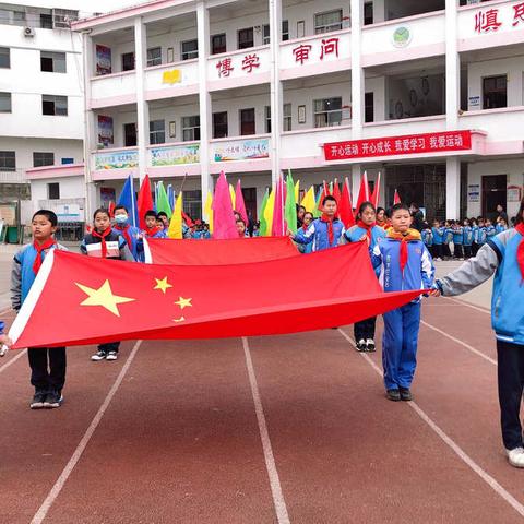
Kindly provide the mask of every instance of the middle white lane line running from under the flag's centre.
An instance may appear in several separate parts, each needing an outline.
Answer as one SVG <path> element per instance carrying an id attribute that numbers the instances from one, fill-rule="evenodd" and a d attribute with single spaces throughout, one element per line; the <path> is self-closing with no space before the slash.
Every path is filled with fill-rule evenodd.
<path id="1" fill-rule="evenodd" d="M 259 384 L 254 374 L 253 361 L 251 360 L 251 352 L 246 337 L 242 337 L 243 354 L 246 357 L 246 367 L 248 368 L 249 384 L 251 385 L 251 394 L 253 395 L 254 410 L 259 422 L 260 439 L 264 451 L 265 467 L 270 477 L 271 492 L 273 493 L 273 504 L 275 507 L 276 519 L 278 524 L 289 524 L 289 515 L 287 513 L 286 501 L 282 493 L 281 479 L 276 471 L 275 457 L 271 446 L 270 433 L 267 432 L 267 424 L 265 422 L 264 409 L 260 400 Z"/>

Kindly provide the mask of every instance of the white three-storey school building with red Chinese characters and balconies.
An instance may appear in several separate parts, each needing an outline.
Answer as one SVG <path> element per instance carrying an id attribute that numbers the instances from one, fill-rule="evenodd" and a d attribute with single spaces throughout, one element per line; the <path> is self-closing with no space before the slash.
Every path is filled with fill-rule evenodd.
<path id="1" fill-rule="evenodd" d="M 383 204 L 397 189 L 428 218 L 516 213 L 524 1 L 155 0 L 73 29 L 84 172 L 29 178 L 88 212 L 148 174 L 199 216 L 224 170 L 257 216 L 291 169 L 302 189 L 347 176 L 354 198 L 380 172 Z"/>

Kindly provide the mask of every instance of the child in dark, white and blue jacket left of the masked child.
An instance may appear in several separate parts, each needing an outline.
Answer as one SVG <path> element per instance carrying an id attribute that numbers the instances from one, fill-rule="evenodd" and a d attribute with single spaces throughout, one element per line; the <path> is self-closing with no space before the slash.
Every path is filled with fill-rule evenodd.
<path id="1" fill-rule="evenodd" d="M 80 252 L 90 257 L 134 262 L 126 239 L 111 229 L 111 219 L 107 210 L 98 209 L 93 215 L 93 229 L 80 245 Z M 109 342 L 98 345 L 98 350 L 92 355 L 93 361 L 116 360 L 118 358 L 119 342 Z"/>

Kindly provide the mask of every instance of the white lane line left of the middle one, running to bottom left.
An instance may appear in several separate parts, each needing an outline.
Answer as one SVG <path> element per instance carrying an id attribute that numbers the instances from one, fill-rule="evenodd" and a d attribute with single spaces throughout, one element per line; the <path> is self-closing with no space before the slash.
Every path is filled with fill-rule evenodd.
<path id="1" fill-rule="evenodd" d="M 35 516 L 31 521 L 31 524 L 40 524 L 44 519 L 47 516 L 47 513 L 49 512 L 52 503 L 57 499 L 57 497 L 60 495 L 60 491 L 62 490 L 64 484 L 67 483 L 68 478 L 70 477 L 71 473 L 74 469 L 74 466 L 76 466 L 78 462 L 80 461 L 80 457 L 82 456 L 82 453 L 85 451 L 85 448 L 90 443 L 91 438 L 93 437 L 93 433 L 95 432 L 96 428 L 100 424 L 102 417 L 106 413 L 107 408 L 109 407 L 109 404 L 112 401 L 112 397 L 117 393 L 118 389 L 120 388 L 120 384 L 122 383 L 123 377 L 128 372 L 131 362 L 133 361 L 136 352 L 140 348 L 140 345 L 142 344 L 142 341 L 138 341 L 136 344 L 134 345 L 133 349 L 129 354 L 128 359 L 126 360 L 126 364 L 123 365 L 122 369 L 120 370 L 120 373 L 117 377 L 117 380 L 115 380 L 111 389 L 109 390 L 109 393 L 107 394 L 106 398 L 104 400 L 104 403 L 99 407 L 98 412 L 96 413 L 95 417 L 90 424 L 90 427 L 85 431 L 84 436 L 82 437 L 82 440 L 79 442 L 79 445 L 74 450 L 73 454 L 71 455 L 71 458 L 69 462 L 66 464 L 66 467 L 62 469 L 62 473 L 58 477 L 57 481 L 52 486 L 51 490 L 47 495 L 46 499 L 41 503 L 40 508 L 38 508 L 38 511 L 35 513 Z"/>

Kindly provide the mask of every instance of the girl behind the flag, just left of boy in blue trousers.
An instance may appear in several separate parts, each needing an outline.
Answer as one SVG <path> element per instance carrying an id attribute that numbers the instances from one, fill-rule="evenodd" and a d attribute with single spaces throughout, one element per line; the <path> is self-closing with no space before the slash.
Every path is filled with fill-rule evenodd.
<path id="1" fill-rule="evenodd" d="M 348 242 L 367 241 L 372 251 L 378 242 L 385 237 L 385 231 L 376 222 L 374 206 L 371 202 L 362 202 L 357 213 L 357 224 L 345 234 Z M 377 275 L 378 276 L 378 275 Z M 377 317 L 355 322 L 355 341 L 357 352 L 374 352 L 374 330 Z"/>

